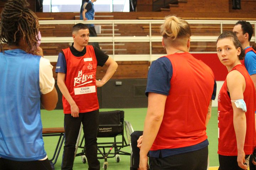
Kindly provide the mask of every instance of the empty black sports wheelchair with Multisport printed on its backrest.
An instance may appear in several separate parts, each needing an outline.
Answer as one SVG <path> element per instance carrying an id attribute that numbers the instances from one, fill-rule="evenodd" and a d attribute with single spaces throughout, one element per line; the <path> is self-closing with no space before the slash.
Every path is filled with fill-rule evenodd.
<path id="1" fill-rule="evenodd" d="M 82 125 L 79 132 L 79 137 L 76 144 L 75 156 L 81 156 L 82 162 L 86 163 L 85 157 L 85 141 L 84 135 L 80 141 Z M 124 133 L 125 131 L 125 133 Z M 121 150 L 123 147 L 130 147 L 132 151 L 130 134 L 133 128 L 129 121 L 124 121 L 124 111 L 108 111 L 99 113 L 99 126 L 97 138 L 111 138 L 111 142 L 98 142 L 98 159 L 104 159 L 103 168 L 108 168 L 107 158 L 116 158 L 116 162 L 120 161 L 120 155 L 130 155 L 128 152 Z M 121 140 L 117 140 L 117 136 L 121 136 Z M 118 137 L 120 138 L 120 137 Z M 80 144 L 79 144 L 80 141 Z M 82 152 L 76 153 L 78 148 L 82 148 Z"/>

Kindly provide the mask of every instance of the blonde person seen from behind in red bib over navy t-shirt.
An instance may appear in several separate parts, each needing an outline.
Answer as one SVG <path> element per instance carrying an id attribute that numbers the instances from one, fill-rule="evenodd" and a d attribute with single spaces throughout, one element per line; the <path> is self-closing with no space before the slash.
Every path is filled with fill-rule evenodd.
<path id="1" fill-rule="evenodd" d="M 161 35 L 167 55 L 154 61 L 148 73 L 140 170 L 146 169 L 148 152 L 153 170 L 206 170 L 214 75 L 188 52 L 191 31 L 185 20 L 166 17 Z"/>

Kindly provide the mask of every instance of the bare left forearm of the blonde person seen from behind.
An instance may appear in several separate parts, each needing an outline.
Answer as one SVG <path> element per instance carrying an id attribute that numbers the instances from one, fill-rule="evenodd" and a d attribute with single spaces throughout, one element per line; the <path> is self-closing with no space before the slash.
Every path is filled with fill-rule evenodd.
<path id="1" fill-rule="evenodd" d="M 148 152 L 158 134 L 164 117 L 165 101 L 167 96 L 149 92 L 148 111 L 145 118 L 142 145 L 140 148 L 140 170 L 146 170 Z"/>

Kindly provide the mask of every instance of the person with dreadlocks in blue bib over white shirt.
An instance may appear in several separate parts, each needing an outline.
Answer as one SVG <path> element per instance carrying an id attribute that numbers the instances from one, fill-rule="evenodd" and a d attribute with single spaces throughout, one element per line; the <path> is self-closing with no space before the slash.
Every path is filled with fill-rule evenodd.
<path id="1" fill-rule="evenodd" d="M 58 101 L 52 65 L 38 44 L 38 18 L 26 0 L 9 0 L 0 23 L 0 169 L 52 170 L 42 138 L 40 103 Z M 9 46 L 3 51 L 2 43 Z"/>

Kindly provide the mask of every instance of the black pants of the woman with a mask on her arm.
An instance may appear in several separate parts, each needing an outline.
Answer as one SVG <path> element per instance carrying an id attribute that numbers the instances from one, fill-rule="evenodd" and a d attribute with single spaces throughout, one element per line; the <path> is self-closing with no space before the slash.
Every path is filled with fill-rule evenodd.
<path id="1" fill-rule="evenodd" d="M 248 157 L 249 155 L 245 155 L 245 159 Z M 238 166 L 237 156 L 219 155 L 219 164 L 219 170 L 242 170 Z"/>

